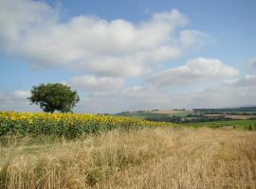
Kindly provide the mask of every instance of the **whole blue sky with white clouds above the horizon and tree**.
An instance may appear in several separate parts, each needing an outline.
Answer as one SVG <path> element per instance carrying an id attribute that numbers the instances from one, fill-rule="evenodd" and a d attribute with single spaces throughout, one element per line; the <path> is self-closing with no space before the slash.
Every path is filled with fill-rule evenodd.
<path id="1" fill-rule="evenodd" d="M 0 111 L 39 112 L 63 83 L 74 112 L 256 106 L 255 0 L 0 0 Z"/>

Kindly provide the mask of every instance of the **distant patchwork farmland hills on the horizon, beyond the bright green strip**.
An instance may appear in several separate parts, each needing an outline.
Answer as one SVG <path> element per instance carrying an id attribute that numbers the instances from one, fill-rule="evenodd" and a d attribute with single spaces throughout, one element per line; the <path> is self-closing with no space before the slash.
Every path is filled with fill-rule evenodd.
<path id="1" fill-rule="evenodd" d="M 255 107 L 244 107 L 244 108 L 233 108 L 233 109 L 193 109 L 193 110 L 153 110 L 153 111 L 136 111 L 136 112 L 120 112 L 116 115 L 140 118 L 148 121 L 155 122 L 171 122 L 177 124 L 190 124 L 196 123 L 199 125 L 202 122 L 220 122 L 220 121 L 233 121 L 239 120 L 256 120 L 256 108 Z M 249 122 L 249 121 L 248 121 Z M 240 122 L 238 122 L 240 123 Z M 245 121 L 247 123 L 247 121 Z M 250 121 L 254 125 L 254 121 Z M 246 124 L 247 125 L 247 124 Z"/>

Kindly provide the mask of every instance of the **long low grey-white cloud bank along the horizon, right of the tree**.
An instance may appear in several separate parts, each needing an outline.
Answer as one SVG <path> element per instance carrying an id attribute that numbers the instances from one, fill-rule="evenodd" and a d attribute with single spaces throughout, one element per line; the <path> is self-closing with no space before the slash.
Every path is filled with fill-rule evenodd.
<path id="1" fill-rule="evenodd" d="M 174 108 L 227 108 L 256 105 L 256 76 L 241 77 L 198 91 L 170 94 L 154 86 L 134 86 L 119 92 L 92 93 L 78 112 L 122 112 Z"/>

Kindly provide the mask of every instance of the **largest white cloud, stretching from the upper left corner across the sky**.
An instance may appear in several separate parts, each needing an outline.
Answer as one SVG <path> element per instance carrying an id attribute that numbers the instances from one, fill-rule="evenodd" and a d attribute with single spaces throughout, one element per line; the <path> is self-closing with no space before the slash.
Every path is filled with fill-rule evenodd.
<path id="1" fill-rule="evenodd" d="M 36 67 L 66 66 L 101 77 L 136 77 L 205 39 L 195 30 L 175 34 L 189 23 L 177 9 L 155 12 L 138 23 L 88 15 L 64 22 L 56 12 L 43 1 L 1 0 L 0 49 Z"/>

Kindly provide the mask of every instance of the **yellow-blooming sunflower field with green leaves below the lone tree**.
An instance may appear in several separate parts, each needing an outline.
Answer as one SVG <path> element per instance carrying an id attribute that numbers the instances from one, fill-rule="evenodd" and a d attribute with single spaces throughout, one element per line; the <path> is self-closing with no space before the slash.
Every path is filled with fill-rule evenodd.
<path id="1" fill-rule="evenodd" d="M 173 124 L 111 115 L 0 112 L 0 137 L 6 135 L 56 135 L 75 138 L 111 129 L 128 130 L 166 126 L 173 126 Z"/>

